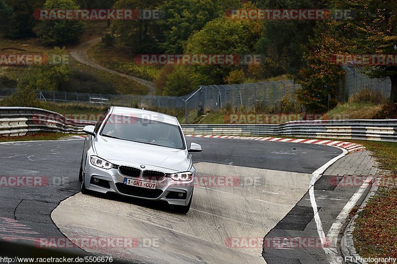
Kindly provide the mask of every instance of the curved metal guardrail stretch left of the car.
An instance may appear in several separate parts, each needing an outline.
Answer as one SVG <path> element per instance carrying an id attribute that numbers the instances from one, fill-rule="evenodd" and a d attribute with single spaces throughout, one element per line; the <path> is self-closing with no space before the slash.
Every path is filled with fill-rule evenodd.
<path id="1" fill-rule="evenodd" d="M 62 114 L 34 107 L 0 107 L 0 136 L 35 132 L 82 133 L 95 121 L 71 120 Z"/>

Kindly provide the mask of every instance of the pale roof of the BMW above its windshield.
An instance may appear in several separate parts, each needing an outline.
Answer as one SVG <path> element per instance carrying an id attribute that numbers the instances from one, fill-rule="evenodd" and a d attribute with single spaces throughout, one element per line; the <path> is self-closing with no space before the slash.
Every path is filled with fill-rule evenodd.
<path id="1" fill-rule="evenodd" d="M 159 113 L 155 111 L 124 107 L 124 106 L 111 106 L 111 113 L 118 115 L 134 116 L 142 119 L 159 121 L 167 124 L 178 125 L 178 119 L 175 116 Z"/>

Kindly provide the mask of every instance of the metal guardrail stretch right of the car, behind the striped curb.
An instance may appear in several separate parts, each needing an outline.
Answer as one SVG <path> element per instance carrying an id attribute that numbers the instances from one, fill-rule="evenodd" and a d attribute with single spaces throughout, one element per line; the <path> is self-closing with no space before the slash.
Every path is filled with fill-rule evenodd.
<path id="1" fill-rule="evenodd" d="M 289 136 L 397 142 L 397 119 L 290 121 L 283 124 L 182 125 L 185 134 Z"/>

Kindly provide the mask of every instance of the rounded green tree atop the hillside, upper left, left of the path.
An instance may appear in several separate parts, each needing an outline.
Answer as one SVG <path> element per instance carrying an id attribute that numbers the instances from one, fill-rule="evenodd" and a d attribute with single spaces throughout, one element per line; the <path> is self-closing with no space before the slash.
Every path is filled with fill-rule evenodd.
<path id="1" fill-rule="evenodd" d="M 74 0 L 46 0 L 44 9 L 79 9 Z M 80 20 L 43 20 L 34 28 L 41 42 L 45 45 L 76 43 L 84 32 Z"/>

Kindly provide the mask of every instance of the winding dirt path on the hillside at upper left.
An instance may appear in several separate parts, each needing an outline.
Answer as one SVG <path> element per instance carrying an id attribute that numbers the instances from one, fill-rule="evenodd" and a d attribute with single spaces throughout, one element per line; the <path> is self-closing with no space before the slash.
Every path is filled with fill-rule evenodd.
<path id="1" fill-rule="evenodd" d="M 149 95 L 153 95 L 154 94 L 154 84 L 151 81 L 147 81 L 144 79 L 140 79 L 131 75 L 127 75 L 115 70 L 111 70 L 108 68 L 105 68 L 101 65 L 99 65 L 98 63 L 94 62 L 87 54 L 88 49 L 91 48 L 92 46 L 94 46 L 95 44 L 99 43 L 101 41 L 101 38 L 96 38 L 93 40 L 89 40 L 86 42 L 81 43 L 80 45 L 78 45 L 77 47 L 75 47 L 71 52 L 70 55 L 76 59 L 78 62 L 81 62 L 89 67 L 98 69 L 98 70 L 102 70 L 102 71 L 106 71 L 106 72 L 110 72 L 110 73 L 114 73 L 117 74 L 119 76 L 122 77 L 126 77 L 129 78 L 131 80 L 134 80 L 144 86 L 146 86 L 149 89 Z"/>

